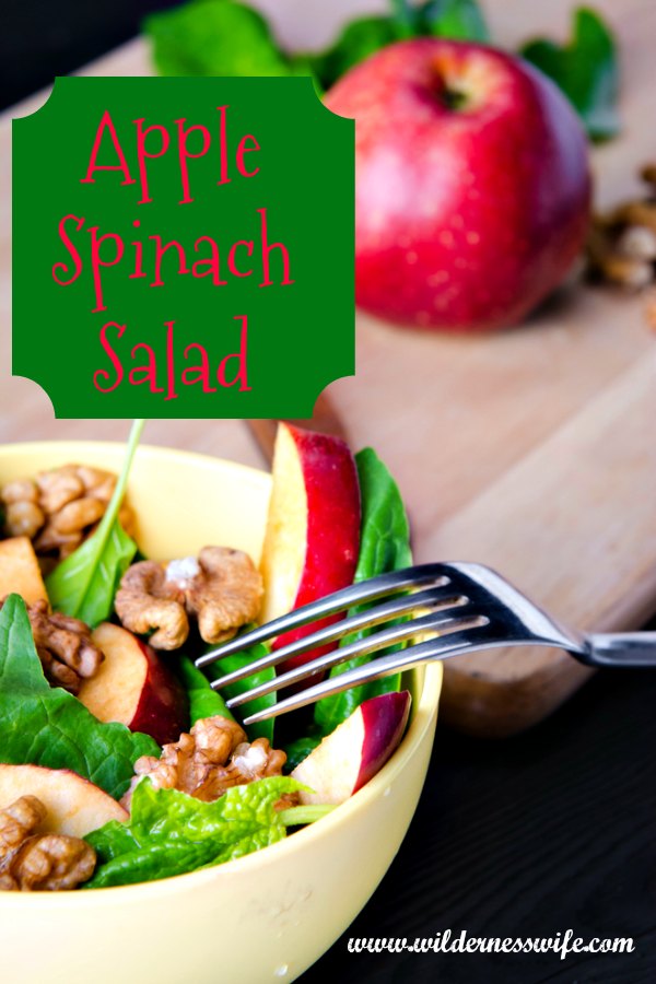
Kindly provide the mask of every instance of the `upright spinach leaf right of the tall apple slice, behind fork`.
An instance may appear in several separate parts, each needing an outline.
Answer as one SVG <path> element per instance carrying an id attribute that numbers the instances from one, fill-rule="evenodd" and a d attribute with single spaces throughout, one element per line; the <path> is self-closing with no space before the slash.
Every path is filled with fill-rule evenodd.
<path id="1" fill-rule="evenodd" d="M 360 492 L 362 497 L 362 531 L 360 539 L 360 558 L 355 570 L 354 582 L 365 581 L 387 571 L 398 571 L 412 563 L 410 552 L 410 532 L 408 517 L 396 482 L 385 465 L 371 447 L 355 455 Z M 354 611 L 362 610 L 362 607 Z M 391 624 L 391 623 L 390 623 Z M 368 635 L 371 630 L 362 630 L 347 636 L 341 645 L 354 642 Z M 400 646 L 393 646 L 386 653 L 393 653 Z M 356 656 L 330 670 L 336 677 L 347 669 L 362 666 L 370 661 L 370 656 Z M 315 724 L 320 735 L 330 731 L 345 721 L 363 701 L 379 693 L 400 690 L 400 673 L 373 680 L 361 687 L 354 687 L 333 696 L 324 698 L 315 705 Z"/>

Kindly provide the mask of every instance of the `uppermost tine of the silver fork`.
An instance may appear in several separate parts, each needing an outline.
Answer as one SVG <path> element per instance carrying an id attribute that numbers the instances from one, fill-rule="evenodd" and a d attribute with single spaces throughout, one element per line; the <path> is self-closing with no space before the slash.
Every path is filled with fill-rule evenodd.
<path id="1" fill-rule="evenodd" d="M 202 669 L 216 659 L 224 656 L 231 656 L 239 653 L 242 649 L 254 646 L 256 643 L 266 642 L 276 635 L 281 635 L 290 629 L 297 629 L 314 622 L 325 616 L 336 614 L 355 605 L 362 605 L 365 601 L 375 601 L 384 598 L 386 595 L 397 594 L 405 588 L 426 587 L 433 585 L 435 587 L 449 583 L 448 570 L 445 564 L 419 564 L 414 567 L 407 567 L 403 571 L 393 571 L 389 574 L 379 574 L 368 581 L 359 584 L 352 584 L 349 587 L 312 601 L 290 611 L 288 614 L 280 616 L 271 622 L 266 622 L 244 635 L 236 636 L 227 643 L 224 643 L 211 653 L 204 653 L 195 660 L 196 666 Z M 269 664 L 270 665 L 270 664 Z"/>

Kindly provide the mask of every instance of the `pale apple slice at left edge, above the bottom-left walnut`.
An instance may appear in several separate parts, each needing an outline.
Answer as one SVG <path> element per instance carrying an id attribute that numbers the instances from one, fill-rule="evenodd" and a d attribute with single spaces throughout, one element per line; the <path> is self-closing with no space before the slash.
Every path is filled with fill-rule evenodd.
<path id="1" fill-rule="evenodd" d="M 69 769 L 0 764 L 0 810 L 21 796 L 37 796 L 48 811 L 44 833 L 83 837 L 109 820 L 129 815 L 99 786 Z"/>

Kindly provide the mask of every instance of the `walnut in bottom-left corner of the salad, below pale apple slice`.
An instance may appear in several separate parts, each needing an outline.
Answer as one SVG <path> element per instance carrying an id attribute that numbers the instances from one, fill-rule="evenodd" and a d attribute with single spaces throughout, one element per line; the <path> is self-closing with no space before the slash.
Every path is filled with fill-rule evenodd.
<path id="1" fill-rule="evenodd" d="M 93 875 L 93 847 L 67 834 L 38 833 L 46 816 L 36 796 L 21 796 L 0 810 L 0 890 L 55 892 Z"/>

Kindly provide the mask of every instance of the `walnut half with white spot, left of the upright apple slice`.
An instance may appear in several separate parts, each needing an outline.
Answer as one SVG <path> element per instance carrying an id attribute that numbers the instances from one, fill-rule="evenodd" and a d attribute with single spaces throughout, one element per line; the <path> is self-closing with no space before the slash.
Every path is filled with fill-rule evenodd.
<path id="1" fill-rule="evenodd" d="M 189 617 L 212 644 L 232 639 L 260 609 L 262 578 L 247 553 L 203 547 L 198 555 L 160 564 L 140 561 L 122 576 L 117 614 L 126 629 L 156 649 L 177 649 L 189 634 Z"/>

